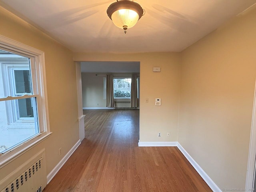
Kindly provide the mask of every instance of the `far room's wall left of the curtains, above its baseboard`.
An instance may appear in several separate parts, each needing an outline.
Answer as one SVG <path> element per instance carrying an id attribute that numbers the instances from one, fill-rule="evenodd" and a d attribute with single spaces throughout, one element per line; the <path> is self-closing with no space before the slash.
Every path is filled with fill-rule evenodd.
<path id="1" fill-rule="evenodd" d="M 103 77 L 95 73 L 82 73 L 83 107 L 106 107 L 103 98 Z"/>

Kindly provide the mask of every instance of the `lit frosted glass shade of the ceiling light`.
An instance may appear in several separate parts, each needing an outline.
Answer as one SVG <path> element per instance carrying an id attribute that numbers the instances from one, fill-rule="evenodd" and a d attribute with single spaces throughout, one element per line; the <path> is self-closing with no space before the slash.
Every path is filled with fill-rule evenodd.
<path id="1" fill-rule="evenodd" d="M 115 11 L 111 19 L 113 23 L 121 29 L 123 29 L 124 26 L 126 26 L 126 28 L 132 28 L 139 20 L 139 15 L 134 10 L 121 9 Z"/>

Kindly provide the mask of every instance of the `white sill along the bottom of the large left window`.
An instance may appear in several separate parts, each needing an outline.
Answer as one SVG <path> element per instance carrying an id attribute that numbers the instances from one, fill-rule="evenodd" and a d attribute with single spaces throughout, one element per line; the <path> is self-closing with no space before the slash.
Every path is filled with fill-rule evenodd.
<path id="1" fill-rule="evenodd" d="M 34 146 L 36 146 L 37 144 L 39 144 L 40 142 L 46 140 L 48 137 L 51 136 L 51 134 L 52 132 L 40 134 L 33 138 L 32 140 L 24 142 L 23 144 L 17 146 L 16 148 L 12 148 L 9 152 L 0 154 L 0 169 L 9 164 L 10 162 L 12 162 L 13 160 L 15 160 L 16 158 L 18 158 L 19 156 L 21 156 L 22 154 L 24 154 L 25 152 L 27 152 L 28 150 L 30 150 L 31 148 L 33 148 Z M 18 151 L 14 149 L 17 149 Z"/>

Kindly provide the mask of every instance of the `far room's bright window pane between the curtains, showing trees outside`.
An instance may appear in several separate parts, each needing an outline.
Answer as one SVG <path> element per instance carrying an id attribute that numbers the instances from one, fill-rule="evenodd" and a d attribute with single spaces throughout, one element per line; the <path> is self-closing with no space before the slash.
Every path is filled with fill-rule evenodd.
<path id="1" fill-rule="evenodd" d="M 114 78 L 114 97 L 131 97 L 131 78 Z"/>

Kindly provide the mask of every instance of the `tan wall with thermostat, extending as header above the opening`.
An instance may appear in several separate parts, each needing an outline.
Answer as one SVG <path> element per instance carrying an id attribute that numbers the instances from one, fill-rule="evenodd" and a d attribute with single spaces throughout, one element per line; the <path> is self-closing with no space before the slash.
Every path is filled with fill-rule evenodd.
<path id="1" fill-rule="evenodd" d="M 140 62 L 140 141 L 178 140 L 180 53 L 86 54 L 74 53 L 75 61 Z M 153 67 L 161 72 L 152 72 Z M 146 103 L 146 98 L 149 102 Z M 162 106 L 155 106 L 162 98 Z M 162 137 L 157 137 L 161 132 Z M 171 133 L 167 137 L 167 132 Z"/>

